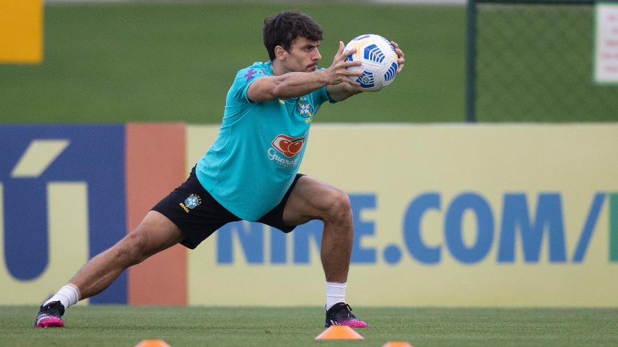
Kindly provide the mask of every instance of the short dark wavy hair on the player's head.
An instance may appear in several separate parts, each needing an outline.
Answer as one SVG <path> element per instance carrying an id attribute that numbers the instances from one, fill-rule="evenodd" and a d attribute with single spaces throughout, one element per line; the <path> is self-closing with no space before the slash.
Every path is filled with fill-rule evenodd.
<path id="1" fill-rule="evenodd" d="M 295 11 L 279 12 L 264 19 L 264 46 L 271 60 L 275 60 L 275 47 L 281 46 L 289 52 L 293 40 L 299 36 L 321 41 L 322 28 L 310 16 Z"/>

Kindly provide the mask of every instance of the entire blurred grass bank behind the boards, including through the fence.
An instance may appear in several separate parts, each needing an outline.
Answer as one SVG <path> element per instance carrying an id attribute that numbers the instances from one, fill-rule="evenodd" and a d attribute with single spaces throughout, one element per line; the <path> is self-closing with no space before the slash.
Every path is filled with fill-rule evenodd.
<path id="1" fill-rule="evenodd" d="M 239 69 L 266 60 L 263 19 L 301 10 L 338 40 L 382 34 L 406 53 L 387 90 L 320 110 L 324 122 L 462 122 L 466 7 L 354 1 L 46 3 L 42 64 L 0 64 L 0 123 L 220 123 Z M 591 5 L 494 5 L 477 19 L 477 120 L 618 121 L 593 83 Z"/>

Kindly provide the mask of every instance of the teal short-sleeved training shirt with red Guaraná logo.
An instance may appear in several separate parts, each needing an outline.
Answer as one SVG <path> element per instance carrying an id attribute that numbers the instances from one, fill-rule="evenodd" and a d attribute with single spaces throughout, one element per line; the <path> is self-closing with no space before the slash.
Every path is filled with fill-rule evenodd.
<path id="1" fill-rule="evenodd" d="M 312 119 L 330 101 L 325 86 L 301 97 L 250 101 L 249 85 L 272 75 L 271 62 L 238 71 L 217 139 L 196 166 L 213 198 L 250 222 L 281 202 L 300 167 Z"/>

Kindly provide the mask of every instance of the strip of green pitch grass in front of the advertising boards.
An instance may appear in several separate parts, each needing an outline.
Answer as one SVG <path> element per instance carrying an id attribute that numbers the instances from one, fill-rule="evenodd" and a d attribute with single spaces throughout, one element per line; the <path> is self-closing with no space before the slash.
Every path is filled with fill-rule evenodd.
<path id="1" fill-rule="evenodd" d="M 618 309 L 363 308 L 363 341 L 315 341 L 319 308 L 72 307 L 62 329 L 32 327 L 36 308 L 1 307 L 0 346 L 617 346 Z"/>

